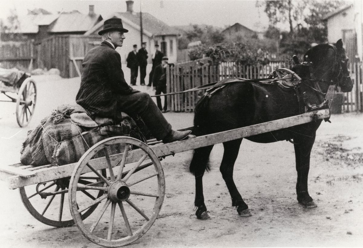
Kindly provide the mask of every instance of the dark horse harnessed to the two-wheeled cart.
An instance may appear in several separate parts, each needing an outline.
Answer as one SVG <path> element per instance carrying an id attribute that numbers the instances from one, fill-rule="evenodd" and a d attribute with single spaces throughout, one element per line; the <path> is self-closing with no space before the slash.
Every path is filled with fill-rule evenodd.
<path id="1" fill-rule="evenodd" d="M 353 83 L 347 70 L 348 59 L 342 40 L 337 41 L 336 44 L 317 45 L 307 51 L 304 61 L 306 58 L 312 62 L 310 68 L 303 63 L 296 65 L 292 70 L 302 78 L 300 87 L 301 92 L 305 93 L 304 102 L 307 105 L 322 104 L 329 85 L 338 85 L 343 92 L 352 90 Z M 195 109 L 194 134 L 207 135 L 300 113 L 301 101 L 299 104 L 297 93 L 293 88 L 286 89 L 276 83 L 236 82 L 228 84 L 209 97 L 205 96 L 198 102 Z M 297 200 L 309 208 L 317 207 L 307 191 L 307 176 L 311 148 L 321 121 L 246 138 L 260 143 L 293 140 L 297 170 Z M 250 216 L 248 206 L 233 181 L 233 166 L 241 141 L 242 139 L 237 139 L 223 143 L 224 154 L 220 171 L 231 194 L 232 206 L 236 206 L 239 215 Z M 208 159 L 212 148 L 213 145 L 195 149 L 190 164 L 190 171 L 195 175 L 195 206 L 196 216 L 199 219 L 209 218 L 204 204 L 202 178 L 205 170 L 209 170 Z"/>

